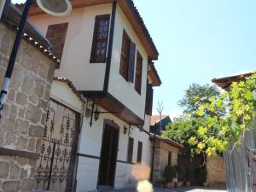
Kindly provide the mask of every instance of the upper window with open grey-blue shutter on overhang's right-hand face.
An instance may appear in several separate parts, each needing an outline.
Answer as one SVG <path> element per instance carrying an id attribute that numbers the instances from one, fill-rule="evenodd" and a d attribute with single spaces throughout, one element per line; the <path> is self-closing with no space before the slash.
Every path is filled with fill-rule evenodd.
<path id="1" fill-rule="evenodd" d="M 129 38 L 124 30 L 119 73 L 125 80 L 131 83 L 133 83 L 134 79 L 135 50 L 136 45 L 131 41 L 131 38 Z"/>

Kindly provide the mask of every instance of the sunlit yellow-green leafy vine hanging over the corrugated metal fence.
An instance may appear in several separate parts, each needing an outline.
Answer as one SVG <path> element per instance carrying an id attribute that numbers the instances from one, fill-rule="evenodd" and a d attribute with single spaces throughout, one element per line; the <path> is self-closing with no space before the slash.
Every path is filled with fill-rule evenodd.
<path id="1" fill-rule="evenodd" d="M 197 122 L 195 136 L 187 143 L 192 154 L 217 154 L 240 146 L 245 132 L 255 119 L 256 73 L 240 82 L 230 85 L 230 90 L 212 96 L 195 112 L 187 114 L 189 120 Z"/>

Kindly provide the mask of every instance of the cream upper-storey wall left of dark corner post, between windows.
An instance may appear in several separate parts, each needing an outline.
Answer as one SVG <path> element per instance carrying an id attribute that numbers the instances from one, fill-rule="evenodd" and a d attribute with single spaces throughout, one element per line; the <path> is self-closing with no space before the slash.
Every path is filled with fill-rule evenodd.
<path id="1" fill-rule="evenodd" d="M 90 63 L 90 49 L 96 15 L 111 14 L 112 4 L 73 9 L 71 15 L 36 15 L 32 22 L 46 35 L 49 25 L 68 23 L 61 68 L 55 76 L 72 80 L 78 90 L 102 90 L 106 63 Z"/>

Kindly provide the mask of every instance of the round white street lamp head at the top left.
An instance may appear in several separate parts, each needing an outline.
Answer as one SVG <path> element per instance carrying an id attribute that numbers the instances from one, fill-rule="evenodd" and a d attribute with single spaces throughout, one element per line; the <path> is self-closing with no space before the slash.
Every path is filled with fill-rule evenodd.
<path id="1" fill-rule="evenodd" d="M 72 11 L 72 5 L 68 0 L 37 0 L 39 8 L 49 15 L 66 16 Z"/>

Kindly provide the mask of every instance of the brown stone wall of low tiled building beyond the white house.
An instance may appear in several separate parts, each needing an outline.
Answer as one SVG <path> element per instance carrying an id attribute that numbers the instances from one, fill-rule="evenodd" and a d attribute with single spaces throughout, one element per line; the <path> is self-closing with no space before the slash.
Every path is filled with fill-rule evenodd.
<path id="1" fill-rule="evenodd" d="M 153 146 L 153 142 L 152 142 L 152 146 Z M 164 181 L 163 172 L 165 170 L 165 167 L 168 164 L 169 151 L 172 152 L 172 166 L 176 166 L 178 149 L 172 147 L 169 144 L 160 142 L 158 140 L 155 141 L 154 172 L 153 172 L 154 183 L 161 183 L 162 181 Z"/>

